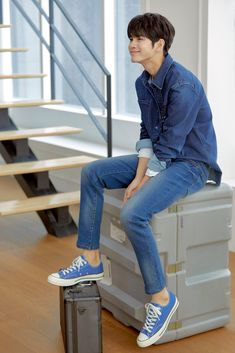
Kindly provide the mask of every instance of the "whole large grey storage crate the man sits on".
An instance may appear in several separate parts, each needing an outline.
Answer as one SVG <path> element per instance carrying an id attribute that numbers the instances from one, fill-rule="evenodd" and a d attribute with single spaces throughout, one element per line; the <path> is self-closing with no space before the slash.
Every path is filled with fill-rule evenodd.
<path id="1" fill-rule="evenodd" d="M 145 319 L 143 280 L 119 215 L 123 190 L 107 191 L 101 227 L 106 279 L 99 284 L 103 306 L 126 325 L 140 329 Z M 152 227 L 167 285 L 180 305 L 166 334 L 169 342 L 226 325 L 230 316 L 228 240 L 232 191 L 207 185 L 154 215 Z"/>

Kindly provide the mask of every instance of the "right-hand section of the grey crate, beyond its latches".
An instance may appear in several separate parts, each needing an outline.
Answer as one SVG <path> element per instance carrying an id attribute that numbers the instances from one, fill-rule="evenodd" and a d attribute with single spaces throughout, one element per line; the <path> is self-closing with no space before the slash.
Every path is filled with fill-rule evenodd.
<path id="1" fill-rule="evenodd" d="M 228 241 L 232 191 L 208 185 L 177 204 L 177 338 L 222 327 L 230 319 Z M 193 305 L 192 305 L 193 303 Z"/>

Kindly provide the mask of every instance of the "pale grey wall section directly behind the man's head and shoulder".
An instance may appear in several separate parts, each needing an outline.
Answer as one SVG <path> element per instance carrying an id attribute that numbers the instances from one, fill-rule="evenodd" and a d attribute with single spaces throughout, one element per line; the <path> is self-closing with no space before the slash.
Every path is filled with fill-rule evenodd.
<path id="1" fill-rule="evenodd" d="M 207 84 L 208 0 L 147 0 L 147 11 L 166 16 L 175 27 L 173 58 Z"/>

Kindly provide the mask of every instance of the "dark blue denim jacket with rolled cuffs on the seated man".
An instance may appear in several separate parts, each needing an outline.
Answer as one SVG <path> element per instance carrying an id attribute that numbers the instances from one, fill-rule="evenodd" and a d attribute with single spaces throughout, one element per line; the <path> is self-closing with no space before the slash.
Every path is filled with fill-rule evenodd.
<path id="1" fill-rule="evenodd" d="M 212 113 L 197 77 L 168 54 L 153 79 L 147 71 L 137 78 L 136 92 L 141 110 L 136 150 L 153 149 L 148 167 L 159 171 L 176 159 L 201 161 L 219 185 Z"/>

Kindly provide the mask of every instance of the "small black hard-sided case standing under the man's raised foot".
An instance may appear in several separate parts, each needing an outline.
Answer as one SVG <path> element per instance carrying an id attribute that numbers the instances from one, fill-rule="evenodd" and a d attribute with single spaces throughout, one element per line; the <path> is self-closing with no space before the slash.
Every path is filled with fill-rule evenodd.
<path id="1" fill-rule="evenodd" d="M 96 282 L 60 287 L 66 353 L 102 353 L 101 297 Z"/>

